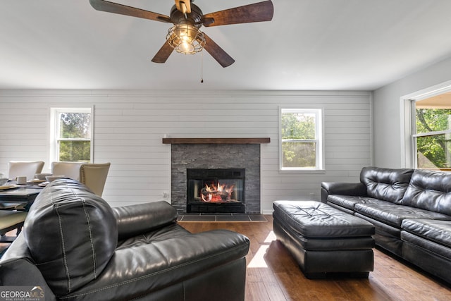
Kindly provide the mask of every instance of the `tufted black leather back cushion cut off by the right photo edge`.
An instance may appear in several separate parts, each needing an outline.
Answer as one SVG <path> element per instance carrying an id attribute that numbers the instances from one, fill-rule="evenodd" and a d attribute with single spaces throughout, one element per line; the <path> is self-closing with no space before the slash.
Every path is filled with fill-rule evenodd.
<path id="1" fill-rule="evenodd" d="M 451 216 L 451 173 L 417 169 L 402 204 Z"/>

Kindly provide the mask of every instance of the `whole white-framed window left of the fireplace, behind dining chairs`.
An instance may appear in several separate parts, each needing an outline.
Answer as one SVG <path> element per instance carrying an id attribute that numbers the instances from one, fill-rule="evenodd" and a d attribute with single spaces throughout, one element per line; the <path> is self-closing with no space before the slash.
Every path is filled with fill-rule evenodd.
<path id="1" fill-rule="evenodd" d="M 92 109 L 51 109 L 51 161 L 92 161 Z"/>

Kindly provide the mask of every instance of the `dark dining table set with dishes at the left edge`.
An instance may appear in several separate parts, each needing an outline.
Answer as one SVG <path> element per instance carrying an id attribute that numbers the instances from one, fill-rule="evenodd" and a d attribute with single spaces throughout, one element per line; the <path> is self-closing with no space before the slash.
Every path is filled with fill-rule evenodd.
<path id="1" fill-rule="evenodd" d="M 28 211 L 39 192 L 44 188 L 39 183 L 17 184 L 10 180 L 0 186 L 0 209 L 20 209 Z"/>

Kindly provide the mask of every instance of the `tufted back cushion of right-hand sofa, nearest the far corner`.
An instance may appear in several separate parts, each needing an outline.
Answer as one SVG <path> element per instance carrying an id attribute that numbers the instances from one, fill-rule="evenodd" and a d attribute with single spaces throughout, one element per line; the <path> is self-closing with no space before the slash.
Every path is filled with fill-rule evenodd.
<path id="1" fill-rule="evenodd" d="M 400 204 L 413 172 L 408 168 L 364 167 L 360 182 L 366 185 L 367 196 Z"/>

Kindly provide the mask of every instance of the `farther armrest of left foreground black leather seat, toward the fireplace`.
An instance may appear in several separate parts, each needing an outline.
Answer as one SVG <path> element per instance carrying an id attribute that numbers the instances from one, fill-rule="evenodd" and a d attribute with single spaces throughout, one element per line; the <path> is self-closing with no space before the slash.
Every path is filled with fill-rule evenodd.
<path id="1" fill-rule="evenodd" d="M 119 239 L 152 231 L 177 220 L 177 210 L 165 201 L 112 209 L 118 221 Z"/>

